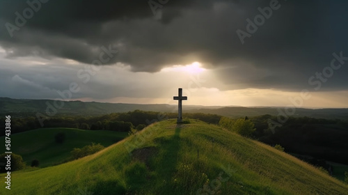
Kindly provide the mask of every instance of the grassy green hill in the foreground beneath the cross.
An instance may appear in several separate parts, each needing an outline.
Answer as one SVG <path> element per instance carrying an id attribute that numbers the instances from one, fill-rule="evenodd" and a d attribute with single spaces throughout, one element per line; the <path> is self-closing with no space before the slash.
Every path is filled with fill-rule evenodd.
<path id="1" fill-rule="evenodd" d="M 295 157 L 196 120 L 155 123 L 94 155 L 11 179 L 0 194 L 348 194 Z"/>

